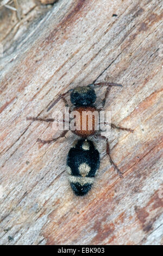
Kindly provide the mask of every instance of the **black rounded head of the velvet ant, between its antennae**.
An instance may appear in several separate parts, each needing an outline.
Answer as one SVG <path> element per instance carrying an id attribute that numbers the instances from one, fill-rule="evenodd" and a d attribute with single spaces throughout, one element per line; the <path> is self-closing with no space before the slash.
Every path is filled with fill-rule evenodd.
<path id="1" fill-rule="evenodd" d="M 96 101 L 96 93 L 90 86 L 76 87 L 70 94 L 74 106 L 90 106 Z"/>

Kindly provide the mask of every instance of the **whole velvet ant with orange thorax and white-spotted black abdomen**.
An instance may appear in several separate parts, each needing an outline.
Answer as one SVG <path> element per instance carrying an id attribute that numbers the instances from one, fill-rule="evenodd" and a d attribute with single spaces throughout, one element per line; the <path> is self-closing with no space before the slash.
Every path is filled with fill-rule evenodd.
<path id="1" fill-rule="evenodd" d="M 52 103 L 52 105 L 48 108 L 47 111 L 49 111 L 54 105 L 60 100 L 64 100 L 65 105 L 68 105 L 67 100 L 65 99 L 67 94 L 70 94 L 70 100 L 73 105 L 73 110 L 79 112 L 79 117 L 76 119 L 76 125 L 79 125 L 81 129 L 73 130 L 72 132 L 75 133 L 80 137 L 78 141 L 75 141 L 70 148 L 70 151 L 67 155 L 67 173 L 70 181 L 71 188 L 76 194 L 76 196 L 84 196 L 87 194 L 92 187 L 92 184 L 95 180 L 95 176 L 97 173 L 97 170 L 99 169 L 100 165 L 100 157 L 99 157 L 99 151 L 96 149 L 95 144 L 89 139 L 89 136 L 94 136 L 95 138 L 102 139 L 106 143 L 106 154 L 109 156 L 110 163 L 114 166 L 114 169 L 117 171 L 117 174 L 123 178 L 122 172 L 114 161 L 112 160 L 112 157 L 110 155 L 110 147 L 108 138 L 105 136 L 102 136 L 99 131 L 96 131 L 96 125 L 95 125 L 95 118 L 91 119 L 92 122 L 92 129 L 89 130 L 89 127 L 87 125 L 87 122 L 89 120 L 86 120 L 86 129 L 83 129 L 82 127 L 82 116 L 83 112 L 94 112 L 94 111 L 100 111 L 101 109 L 97 109 L 96 107 L 96 93 L 95 93 L 95 86 L 106 86 L 106 92 L 104 99 L 102 100 L 102 108 L 105 105 L 106 98 L 110 92 L 111 87 L 117 86 L 122 87 L 121 84 L 116 83 L 94 83 L 89 84 L 84 87 L 76 87 L 74 89 L 68 90 L 64 94 L 60 94 L 59 97 Z M 27 120 L 37 120 L 37 121 L 46 121 L 46 122 L 52 122 L 54 119 L 43 119 L 43 118 L 34 118 L 34 117 L 28 117 Z M 124 128 L 121 126 L 116 126 L 115 124 L 111 123 L 111 128 L 113 129 L 120 129 L 120 130 L 126 130 L 129 132 L 133 132 L 133 130 Z M 52 143 L 57 141 L 57 139 L 61 137 L 65 137 L 67 133 L 66 131 L 62 131 L 60 136 L 57 138 L 51 138 L 47 141 L 43 141 L 42 139 L 37 139 L 40 143 Z"/>

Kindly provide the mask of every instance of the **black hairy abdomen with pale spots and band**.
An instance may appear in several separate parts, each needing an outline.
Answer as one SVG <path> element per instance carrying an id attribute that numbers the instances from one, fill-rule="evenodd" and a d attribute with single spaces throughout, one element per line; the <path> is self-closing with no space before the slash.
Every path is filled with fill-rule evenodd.
<path id="1" fill-rule="evenodd" d="M 99 163 L 99 152 L 93 142 L 80 139 L 72 146 L 67 155 L 67 172 L 76 196 L 84 196 L 91 189 Z"/>

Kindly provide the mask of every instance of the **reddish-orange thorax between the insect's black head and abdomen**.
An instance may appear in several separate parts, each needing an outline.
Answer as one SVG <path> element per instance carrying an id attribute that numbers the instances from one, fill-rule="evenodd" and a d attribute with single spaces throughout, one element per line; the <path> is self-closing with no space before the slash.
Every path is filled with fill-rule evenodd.
<path id="1" fill-rule="evenodd" d="M 78 136 L 87 137 L 95 134 L 96 121 L 98 121 L 98 111 L 95 107 L 82 106 L 74 108 L 74 111 L 78 111 L 76 115 L 76 127 L 74 133 Z M 96 115 L 92 113 L 96 111 Z M 97 119 L 96 119 L 97 118 Z"/>

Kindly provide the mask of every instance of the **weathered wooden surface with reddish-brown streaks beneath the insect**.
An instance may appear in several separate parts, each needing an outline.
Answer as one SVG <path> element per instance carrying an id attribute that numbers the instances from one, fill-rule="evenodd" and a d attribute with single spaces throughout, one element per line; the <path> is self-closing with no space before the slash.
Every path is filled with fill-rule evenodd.
<path id="1" fill-rule="evenodd" d="M 162 1 L 29 3 L 12 27 L 4 21 L 15 13 L 1 16 L 1 245 L 161 245 Z M 134 133 L 109 138 L 124 179 L 99 142 L 96 184 L 77 198 L 65 172 L 71 132 L 41 145 L 38 137 L 55 136 L 52 124 L 26 117 L 52 117 L 47 107 L 58 94 L 93 81 L 123 84 L 105 109 Z M 55 109 L 63 108 L 60 101 Z"/>

